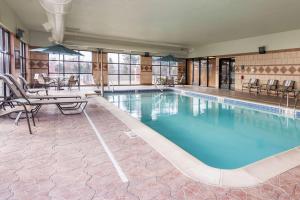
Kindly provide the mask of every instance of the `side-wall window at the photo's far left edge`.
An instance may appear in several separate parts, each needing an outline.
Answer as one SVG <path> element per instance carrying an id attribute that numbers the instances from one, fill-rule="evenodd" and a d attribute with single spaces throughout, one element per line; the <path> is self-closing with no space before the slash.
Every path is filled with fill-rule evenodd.
<path id="1" fill-rule="evenodd" d="M 10 73 L 10 38 L 9 32 L 0 27 L 0 73 Z M 8 94 L 4 83 L 0 81 L 0 97 Z"/>

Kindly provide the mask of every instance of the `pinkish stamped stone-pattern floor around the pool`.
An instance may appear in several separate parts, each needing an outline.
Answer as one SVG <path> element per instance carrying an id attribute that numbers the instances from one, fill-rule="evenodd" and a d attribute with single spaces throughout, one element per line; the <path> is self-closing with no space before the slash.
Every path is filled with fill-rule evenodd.
<path id="1" fill-rule="evenodd" d="M 300 199 L 300 166 L 251 188 L 195 182 L 89 101 L 87 113 L 129 182 L 121 181 L 84 114 L 63 116 L 45 106 L 33 135 L 24 120 L 15 126 L 0 119 L 0 199 Z"/>

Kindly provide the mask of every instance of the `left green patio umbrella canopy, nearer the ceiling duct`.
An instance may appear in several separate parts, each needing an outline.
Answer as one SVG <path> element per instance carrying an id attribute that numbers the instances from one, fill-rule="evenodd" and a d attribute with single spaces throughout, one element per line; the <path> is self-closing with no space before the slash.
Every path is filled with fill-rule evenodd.
<path id="1" fill-rule="evenodd" d="M 53 53 L 59 55 L 69 55 L 69 56 L 83 56 L 81 53 L 69 49 L 61 44 L 55 44 L 44 48 L 31 49 L 30 51 L 41 52 L 41 53 Z"/>

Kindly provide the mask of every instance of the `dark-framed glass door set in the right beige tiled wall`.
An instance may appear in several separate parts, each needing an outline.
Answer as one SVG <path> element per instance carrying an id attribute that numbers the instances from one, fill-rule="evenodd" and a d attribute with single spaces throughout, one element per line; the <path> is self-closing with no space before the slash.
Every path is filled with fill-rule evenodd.
<path id="1" fill-rule="evenodd" d="M 222 58 L 219 61 L 219 86 L 222 89 L 234 90 L 235 60 Z"/>

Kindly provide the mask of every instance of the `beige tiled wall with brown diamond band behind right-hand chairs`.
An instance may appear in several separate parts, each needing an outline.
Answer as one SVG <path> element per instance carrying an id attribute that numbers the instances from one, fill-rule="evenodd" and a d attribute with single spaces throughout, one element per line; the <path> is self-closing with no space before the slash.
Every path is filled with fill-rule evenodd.
<path id="1" fill-rule="evenodd" d="M 300 50 L 241 55 L 236 56 L 235 61 L 237 90 L 250 78 L 259 79 L 260 84 L 266 83 L 268 79 L 277 79 L 280 84 L 284 80 L 294 80 L 296 87 L 300 88 Z"/>

